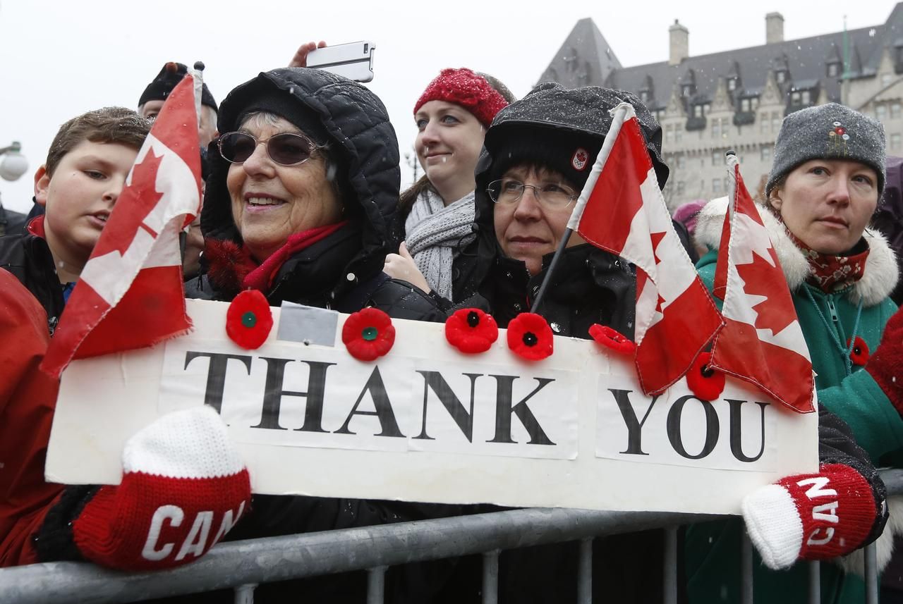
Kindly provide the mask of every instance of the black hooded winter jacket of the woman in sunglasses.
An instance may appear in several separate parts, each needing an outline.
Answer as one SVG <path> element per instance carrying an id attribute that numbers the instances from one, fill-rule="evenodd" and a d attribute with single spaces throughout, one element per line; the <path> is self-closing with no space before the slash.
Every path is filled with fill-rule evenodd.
<path id="1" fill-rule="evenodd" d="M 312 110 L 330 136 L 330 151 L 346 170 L 340 182 L 349 224 L 295 253 L 278 270 L 265 292 L 271 305 L 284 300 L 353 312 L 373 306 L 394 317 L 444 320 L 423 292 L 382 272 L 390 248 L 389 224 L 398 203 L 399 167 L 395 131 L 379 99 L 367 88 L 319 69 L 275 69 L 234 89 L 220 105 L 219 132 L 237 130 L 239 115 L 256 95 L 284 91 Z M 226 190 L 228 162 L 210 148 L 201 230 L 210 243 L 241 245 Z M 186 284 L 189 297 L 226 300 L 239 283 L 210 270 Z M 352 526 L 369 526 L 460 514 L 461 506 L 399 501 L 255 496 L 252 511 L 229 533 L 229 540 L 290 535 Z M 414 564 L 386 574 L 387 602 L 429 602 L 442 590 L 454 562 Z M 255 601 L 365 600 L 364 572 L 328 575 L 291 585 L 261 586 Z M 211 596 L 229 601 L 228 594 Z M 197 600 L 194 600 L 197 601 Z"/>

